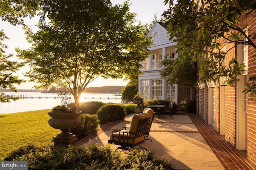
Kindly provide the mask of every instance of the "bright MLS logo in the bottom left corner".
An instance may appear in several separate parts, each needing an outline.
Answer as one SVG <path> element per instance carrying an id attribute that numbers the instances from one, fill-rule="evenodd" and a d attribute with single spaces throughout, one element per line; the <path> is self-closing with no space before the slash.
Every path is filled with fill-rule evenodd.
<path id="1" fill-rule="evenodd" d="M 28 170 L 28 161 L 0 161 L 1 170 Z"/>

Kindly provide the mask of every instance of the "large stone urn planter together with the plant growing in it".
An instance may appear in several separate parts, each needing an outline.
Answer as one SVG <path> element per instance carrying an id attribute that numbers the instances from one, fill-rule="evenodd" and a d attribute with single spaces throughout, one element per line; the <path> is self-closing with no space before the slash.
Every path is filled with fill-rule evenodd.
<path id="1" fill-rule="evenodd" d="M 78 127 L 81 123 L 82 111 L 78 110 L 76 104 L 70 103 L 71 98 L 62 97 L 62 104 L 52 108 L 52 111 L 48 113 L 50 118 L 48 123 L 54 129 L 60 129 L 61 133 L 53 137 L 55 146 L 68 147 L 68 145 L 75 145 L 78 140 L 76 135 L 68 132 L 69 129 Z"/>

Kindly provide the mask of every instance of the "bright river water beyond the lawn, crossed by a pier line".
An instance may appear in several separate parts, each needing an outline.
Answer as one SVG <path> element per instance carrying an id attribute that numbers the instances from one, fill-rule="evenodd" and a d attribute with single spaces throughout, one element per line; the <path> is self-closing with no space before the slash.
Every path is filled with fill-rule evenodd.
<path id="1" fill-rule="evenodd" d="M 0 114 L 51 109 L 61 104 L 58 94 L 37 92 L 6 92 L 6 95 L 19 96 L 21 99 L 10 103 L 0 103 Z M 80 102 L 100 101 L 103 103 L 121 103 L 121 96 L 115 94 L 82 94 Z"/>

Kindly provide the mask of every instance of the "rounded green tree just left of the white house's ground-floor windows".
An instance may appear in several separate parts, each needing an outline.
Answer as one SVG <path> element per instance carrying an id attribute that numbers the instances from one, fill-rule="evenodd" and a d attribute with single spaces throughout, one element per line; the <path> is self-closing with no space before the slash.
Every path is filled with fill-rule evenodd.
<path id="1" fill-rule="evenodd" d="M 132 79 L 126 84 L 126 86 L 122 89 L 122 100 L 126 100 L 126 102 L 133 102 L 133 98 L 139 90 L 138 76 L 136 76 L 136 80 Z"/>

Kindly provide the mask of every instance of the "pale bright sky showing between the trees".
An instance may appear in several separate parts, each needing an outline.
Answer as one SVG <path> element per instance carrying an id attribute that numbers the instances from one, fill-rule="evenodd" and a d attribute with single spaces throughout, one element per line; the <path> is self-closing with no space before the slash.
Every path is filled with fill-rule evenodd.
<path id="1" fill-rule="evenodd" d="M 122 4 L 124 0 L 110 0 L 112 4 Z M 130 0 L 130 12 L 135 12 L 137 14 L 136 20 L 141 21 L 143 24 L 150 23 L 156 14 L 158 20 L 164 12 L 168 9 L 168 5 L 164 6 L 164 0 Z M 38 22 L 38 18 L 25 18 L 25 23 L 32 28 L 33 31 L 36 31 L 35 25 Z M 5 21 L 0 21 L 0 29 L 4 29 L 4 33 L 8 40 L 5 40 L 3 43 L 8 46 L 8 49 L 5 49 L 6 55 L 9 53 L 13 54 L 11 60 L 16 61 L 16 47 L 20 49 L 29 49 L 31 45 L 26 41 L 26 35 L 24 35 L 24 30 L 21 25 L 12 26 L 10 23 Z M 26 83 L 22 83 L 19 86 L 16 85 L 17 89 L 34 89 L 34 83 L 28 82 L 29 78 L 24 77 L 23 73 L 29 70 L 28 66 L 20 68 L 16 73 L 19 78 L 26 80 Z M 90 82 L 87 87 L 101 87 L 101 86 L 126 86 L 128 81 L 123 79 L 104 79 L 98 77 L 96 80 Z"/>

